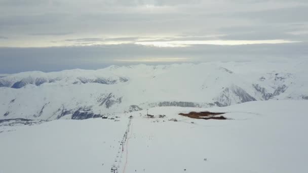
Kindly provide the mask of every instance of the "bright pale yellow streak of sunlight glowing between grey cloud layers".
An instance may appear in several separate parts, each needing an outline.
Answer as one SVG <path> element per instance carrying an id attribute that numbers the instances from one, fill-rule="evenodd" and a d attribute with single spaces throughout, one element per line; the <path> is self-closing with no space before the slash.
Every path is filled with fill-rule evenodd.
<path id="1" fill-rule="evenodd" d="M 96 36 L 96 37 L 95 37 Z M 84 35 L 83 37 L 74 37 L 70 35 L 49 36 L 52 41 L 41 39 L 34 39 L 31 45 L 27 44 L 28 37 L 18 41 L 6 40 L 0 42 L 0 47 L 61 47 L 61 46 L 99 46 L 99 45 L 124 45 L 135 44 L 150 47 L 189 47 L 193 45 L 252 45 L 252 44 L 283 44 L 300 42 L 288 39 L 266 39 L 266 40 L 228 40 L 219 39 L 219 36 L 197 36 L 191 38 L 190 36 L 111 36 L 104 37 L 97 35 Z M 217 38 L 218 37 L 218 38 Z M 51 39 L 52 39 L 51 38 Z M 191 39 L 189 39 L 191 38 Z"/>

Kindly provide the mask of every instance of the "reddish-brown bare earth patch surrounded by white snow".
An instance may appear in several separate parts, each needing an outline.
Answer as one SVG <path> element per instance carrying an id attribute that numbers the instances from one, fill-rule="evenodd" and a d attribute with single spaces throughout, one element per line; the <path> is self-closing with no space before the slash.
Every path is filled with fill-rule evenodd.
<path id="1" fill-rule="evenodd" d="M 189 113 L 179 113 L 179 115 L 187 116 L 189 118 L 195 119 L 227 119 L 224 116 L 216 116 L 224 114 L 223 112 L 189 112 Z"/>

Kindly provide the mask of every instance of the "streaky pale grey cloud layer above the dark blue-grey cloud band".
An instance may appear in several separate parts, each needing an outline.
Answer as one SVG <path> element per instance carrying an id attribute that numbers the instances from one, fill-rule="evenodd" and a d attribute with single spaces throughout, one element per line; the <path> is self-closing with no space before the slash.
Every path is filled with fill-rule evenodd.
<path id="1" fill-rule="evenodd" d="M 224 3 L 226 6 L 220 6 Z M 288 7 L 289 4 L 292 5 Z M 10 37 L 8 46 L 14 46 L 15 42 L 18 45 L 24 39 L 31 46 L 31 42 L 40 39 L 33 45 L 42 42 L 42 47 L 50 42 L 63 45 L 66 41 L 65 45 L 79 46 L 138 39 L 305 41 L 305 33 L 291 34 L 308 29 L 308 6 L 302 4 L 307 3 L 304 0 L 67 0 L 61 3 L 0 0 L 0 11 L 4 13 L 0 15 L 0 35 Z M 151 36 L 159 39 L 147 38 Z"/>

